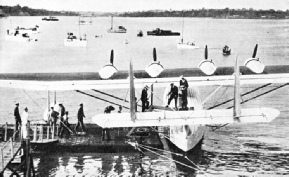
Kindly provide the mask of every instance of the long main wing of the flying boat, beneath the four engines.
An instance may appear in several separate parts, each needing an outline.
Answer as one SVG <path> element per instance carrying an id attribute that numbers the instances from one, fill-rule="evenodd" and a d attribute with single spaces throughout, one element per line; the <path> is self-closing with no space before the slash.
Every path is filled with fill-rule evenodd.
<path id="1" fill-rule="evenodd" d="M 288 83 L 289 65 L 266 66 L 261 74 L 255 74 L 246 67 L 240 67 L 241 84 Z M 189 84 L 195 86 L 233 85 L 233 67 L 219 67 L 211 75 L 205 75 L 198 68 L 165 69 L 152 78 L 144 70 L 134 71 L 135 87 L 154 84 L 166 87 L 178 83 L 183 75 Z M 110 79 L 101 79 L 99 73 L 8 73 L 0 74 L 0 87 L 29 90 L 91 90 L 129 88 L 128 71 L 118 71 Z"/>

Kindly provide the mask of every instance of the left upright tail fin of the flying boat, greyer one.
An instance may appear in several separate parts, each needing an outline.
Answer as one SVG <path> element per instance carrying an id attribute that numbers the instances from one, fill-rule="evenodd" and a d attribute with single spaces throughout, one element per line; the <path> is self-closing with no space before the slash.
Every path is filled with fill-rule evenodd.
<path id="1" fill-rule="evenodd" d="M 132 121 L 135 121 L 135 89 L 134 89 L 134 82 L 133 82 L 133 67 L 132 61 L 129 63 L 129 92 L 130 92 L 130 117 Z"/>

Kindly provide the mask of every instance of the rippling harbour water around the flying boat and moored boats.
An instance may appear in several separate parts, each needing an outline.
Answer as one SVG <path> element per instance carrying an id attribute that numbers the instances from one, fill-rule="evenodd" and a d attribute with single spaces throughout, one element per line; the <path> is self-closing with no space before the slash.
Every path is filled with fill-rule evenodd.
<path id="1" fill-rule="evenodd" d="M 217 66 L 233 66 L 238 55 L 240 63 L 252 56 L 254 46 L 259 44 L 257 56 L 265 65 L 289 64 L 288 20 L 242 20 L 185 18 L 184 41 L 195 41 L 201 48 L 178 50 L 181 37 L 136 36 L 138 30 L 152 30 L 157 27 L 181 32 L 182 18 L 114 18 L 114 25 L 128 29 L 126 34 L 111 34 L 110 18 L 92 18 L 92 25 L 76 25 L 78 17 L 59 17 L 59 22 L 41 21 L 42 17 L 8 17 L 0 19 L 0 72 L 1 73 L 53 73 L 53 72 L 97 72 L 109 62 L 110 50 L 114 50 L 114 64 L 119 70 L 128 69 L 130 60 L 135 69 L 144 69 L 152 61 L 152 51 L 157 49 L 158 60 L 165 68 L 197 67 L 204 58 L 204 47 L 208 45 L 209 58 Z M 40 27 L 40 33 L 33 35 L 37 42 L 5 41 L 6 30 L 19 27 Z M 77 36 L 86 34 L 85 48 L 63 46 L 67 32 Z M 95 36 L 101 36 L 95 38 Z M 125 40 L 128 44 L 125 44 Z M 222 55 L 222 47 L 232 49 L 230 56 Z M 282 84 L 273 84 L 242 97 L 247 100 Z M 258 86 L 243 85 L 246 93 Z M 202 100 L 213 88 L 200 87 Z M 156 89 L 162 98 L 164 88 Z M 232 87 L 221 88 L 204 107 L 209 108 L 233 97 Z M 95 91 L 84 91 L 87 96 L 75 91 L 57 92 L 58 102 L 62 102 L 70 112 L 71 122 L 76 121 L 79 103 L 84 104 L 86 124 L 90 118 L 102 113 L 112 103 L 124 104 L 127 90 L 108 90 L 110 95 Z M 141 90 L 137 90 L 139 97 Z M 29 108 L 30 118 L 42 119 L 46 109 L 47 93 L 21 89 L 0 88 L 1 124 L 13 123 L 13 109 L 16 102 L 20 109 Z M 156 104 L 162 100 L 156 98 Z M 281 114 L 269 124 L 228 125 L 218 130 L 208 129 L 198 153 L 188 154 L 198 167 L 176 165 L 174 162 L 147 152 L 144 158 L 137 151 L 131 153 L 104 154 L 98 152 L 35 154 L 34 162 L 40 176 L 137 176 L 140 162 L 144 172 L 139 176 L 288 176 L 289 175 L 289 113 L 288 86 L 242 104 L 243 107 L 273 107 Z M 222 108 L 232 103 L 222 105 Z M 124 104 L 124 106 L 128 106 Z M 124 110 L 125 112 L 128 110 Z M 161 152 L 158 152 L 162 154 Z M 186 161 L 186 159 L 181 159 Z M 205 173 L 203 172 L 205 171 Z"/>

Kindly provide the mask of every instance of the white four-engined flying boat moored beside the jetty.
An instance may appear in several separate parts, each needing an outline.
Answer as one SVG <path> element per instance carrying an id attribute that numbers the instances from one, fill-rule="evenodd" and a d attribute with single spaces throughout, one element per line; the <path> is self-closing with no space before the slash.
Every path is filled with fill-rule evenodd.
<path id="1" fill-rule="evenodd" d="M 205 59 L 199 68 L 164 69 L 157 61 L 156 49 L 153 50 L 153 61 L 145 70 L 133 70 L 130 62 L 128 71 L 117 70 L 113 63 L 114 52 L 111 51 L 110 63 L 99 72 L 91 73 L 29 73 L 29 74 L 0 74 L 0 87 L 19 88 L 29 90 L 64 91 L 64 90 L 108 90 L 129 89 L 130 111 L 121 114 L 97 114 L 92 121 L 103 128 L 118 127 L 158 127 L 166 128 L 167 139 L 179 149 L 187 152 L 199 143 L 206 130 L 206 126 L 246 124 L 271 122 L 279 111 L 269 107 L 241 108 L 241 85 L 271 84 L 289 82 L 289 66 L 266 66 L 259 59 L 246 61 L 245 66 L 239 66 L 236 57 L 235 67 L 217 67 L 213 60 L 208 60 L 208 49 L 205 48 Z M 257 66 L 256 66 L 257 65 Z M 258 70 L 256 70 L 258 68 Z M 263 70 L 262 70 L 263 69 Z M 178 111 L 166 108 L 164 105 L 151 103 L 146 112 L 135 110 L 135 89 L 150 85 L 151 88 L 166 88 L 164 98 L 168 93 L 170 83 L 179 82 L 183 75 L 189 82 L 188 110 Z M 129 79 L 128 79 L 129 78 Z M 204 101 L 198 94 L 199 86 L 234 86 L 233 109 L 205 109 Z M 216 90 L 217 91 L 217 90 Z M 214 93 L 216 93 L 213 92 Z M 151 91 L 153 93 L 153 91 Z"/>

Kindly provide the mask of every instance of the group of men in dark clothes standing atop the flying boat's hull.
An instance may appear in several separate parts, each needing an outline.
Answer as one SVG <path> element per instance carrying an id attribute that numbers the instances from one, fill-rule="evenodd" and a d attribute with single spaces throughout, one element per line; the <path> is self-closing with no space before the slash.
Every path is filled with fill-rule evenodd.
<path id="1" fill-rule="evenodd" d="M 188 81 L 181 76 L 180 87 L 178 88 L 174 83 L 171 83 L 171 88 L 168 93 L 168 104 L 166 107 L 169 107 L 171 101 L 175 100 L 175 109 L 178 110 L 178 97 L 180 97 L 180 110 L 188 110 Z M 145 86 L 141 93 L 141 102 L 142 102 L 142 112 L 145 112 L 149 108 L 148 101 L 148 86 Z"/>

